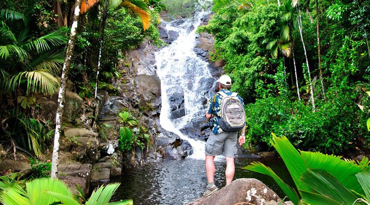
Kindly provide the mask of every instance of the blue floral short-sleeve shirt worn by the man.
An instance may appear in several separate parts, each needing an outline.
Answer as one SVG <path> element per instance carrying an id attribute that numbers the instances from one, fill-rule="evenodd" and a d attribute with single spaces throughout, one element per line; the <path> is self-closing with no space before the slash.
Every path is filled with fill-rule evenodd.
<path id="1" fill-rule="evenodd" d="M 228 90 L 228 89 L 222 89 L 221 91 L 223 91 L 227 95 L 231 95 L 233 93 L 231 90 Z M 242 105 L 244 106 L 243 98 L 239 95 L 237 95 L 237 97 L 239 98 Z M 215 115 L 215 120 L 213 120 L 213 130 L 212 130 L 213 134 L 218 134 L 218 133 L 223 132 L 223 130 L 220 129 L 218 125 L 218 120 L 221 116 L 222 100 L 223 100 L 223 96 L 218 93 L 216 93 L 215 96 L 214 95 L 211 96 L 211 98 L 208 100 L 207 113 Z"/>

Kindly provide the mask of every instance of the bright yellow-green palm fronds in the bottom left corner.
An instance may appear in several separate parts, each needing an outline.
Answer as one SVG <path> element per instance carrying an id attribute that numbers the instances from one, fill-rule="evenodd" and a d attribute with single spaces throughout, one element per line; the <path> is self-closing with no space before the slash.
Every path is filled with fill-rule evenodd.
<path id="1" fill-rule="evenodd" d="M 111 183 L 94 190 L 85 204 L 132 205 L 132 200 L 109 203 L 110 198 L 112 198 L 119 185 L 120 183 Z M 63 181 L 51 178 L 39 178 L 27 182 L 26 190 L 18 185 L 8 187 L 0 196 L 0 202 L 6 205 L 81 204 L 73 197 L 72 192 Z"/>

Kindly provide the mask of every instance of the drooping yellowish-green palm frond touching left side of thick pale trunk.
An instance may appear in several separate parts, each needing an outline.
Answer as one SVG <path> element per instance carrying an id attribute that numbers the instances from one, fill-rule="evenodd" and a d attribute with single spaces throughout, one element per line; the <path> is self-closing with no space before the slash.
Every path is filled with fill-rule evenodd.
<path id="1" fill-rule="evenodd" d="M 58 77 L 53 76 L 46 70 L 35 70 L 13 75 L 10 78 L 10 88 L 15 90 L 17 87 L 20 87 L 24 79 L 27 81 L 27 95 L 35 91 L 52 95 L 54 90 L 60 86 Z"/>

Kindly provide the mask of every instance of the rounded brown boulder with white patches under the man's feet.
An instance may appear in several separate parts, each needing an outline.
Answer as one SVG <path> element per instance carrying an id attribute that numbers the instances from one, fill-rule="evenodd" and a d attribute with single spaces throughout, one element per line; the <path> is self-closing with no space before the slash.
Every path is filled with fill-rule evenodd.
<path id="1" fill-rule="evenodd" d="M 232 205 L 232 204 L 278 204 L 281 199 L 257 179 L 242 178 L 236 179 L 229 186 L 226 186 L 211 196 L 196 199 L 187 205 Z M 244 202 L 244 203 L 243 203 Z M 286 204 L 286 203 L 282 203 Z"/>

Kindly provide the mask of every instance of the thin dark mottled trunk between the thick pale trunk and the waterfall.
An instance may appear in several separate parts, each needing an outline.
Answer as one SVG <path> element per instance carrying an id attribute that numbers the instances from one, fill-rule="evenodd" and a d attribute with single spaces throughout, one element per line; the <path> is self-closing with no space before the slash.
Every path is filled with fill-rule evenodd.
<path id="1" fill-rule="evenodd" d="M 94 111 L 93 111 L 93 116 L 95 117 L 96 115 L 96 112 L 97 112 L 97 105 L 98 105 L 98 83 L 99 83 L 99 79 L 98 79 L 98 76 L 99 76 L 99 71 L 100 71 L 100 64 L 101 64 L 101 53 L 102 53 L 102 50 L 103 50 L 103 40 L 104 40 L 104 30 L 105 30 L 105 23 L 106 23 L 106 19 L 108 17 L 108 2 L 109 0 L 106 0 L 104 2 L 104 6 L 103 6 L 103 16 L 102 16 L 102 19 L 100 21 L 100 33 L 99 33 L 99 57 L 98 57 L 98 68 L 97 68 L 97 75 L 96 75 L 96 79 L 95 79 L 95 94 L 94 94 L 94 99 L 95 99 L 95 108 L 94 108 Z M 91 124 L 90 124 L 91 127 L 94 126 L 94 118 L 91 120 Z"/>

